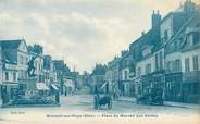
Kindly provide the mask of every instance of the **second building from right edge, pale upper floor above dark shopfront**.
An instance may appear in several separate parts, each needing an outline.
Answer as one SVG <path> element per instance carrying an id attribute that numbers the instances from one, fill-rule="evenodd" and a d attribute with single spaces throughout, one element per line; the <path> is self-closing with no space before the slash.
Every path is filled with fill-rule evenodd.
<path id="1" fill-rule="evenodd" d="M 187 96 L 184 94 L 187 91 L 183 90 L 183 71 L 185 71 L 183 66 L 183 48 L 187 42 L 186 29 L 188 25 L 191 25 L 195 22 L 195 18 L 196 23 L 198 23 L 197 16 L 199 15 L 197 14 L 198 11 L 191 1 L 186 1 L 184 9 L 178 13 L 179 15 L 177 15 L 177 13 L 175 15 L 174 13 L 171 13 L 171 16 L 165 17 L 165 20 L 174 18 L 172 20 L 168 28 L 171 27 L 170 30 L 176 29 L 172 35 L 170 35 L 170 38 L 165 41 L 164 46 L 165 98 L 166 100 L 173 101 L 186 101 L 185 98 L 187 98 Z M 190 14 L 188 15 L 188 13 Z M 164 28 L 161 28 L 161 30 L 164 30 Z M 188 64 L 188 60 L 186 63 Z"/>

